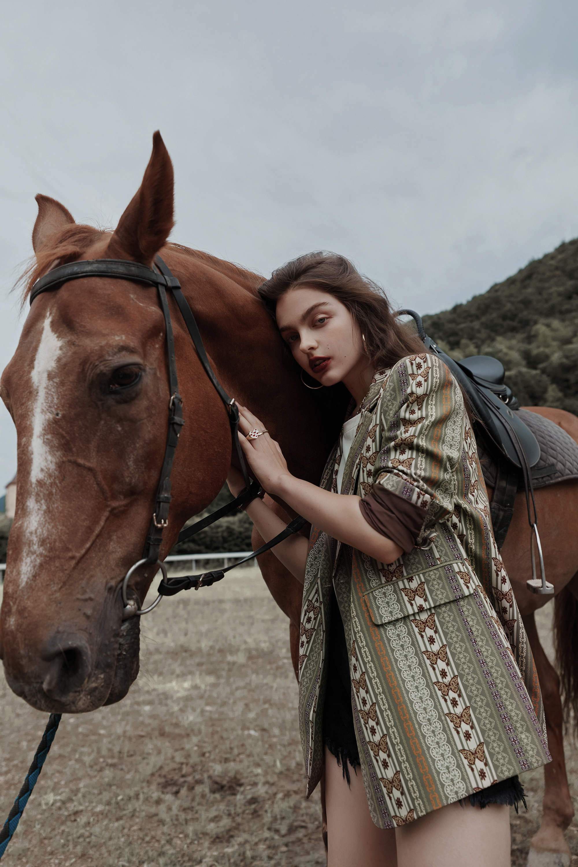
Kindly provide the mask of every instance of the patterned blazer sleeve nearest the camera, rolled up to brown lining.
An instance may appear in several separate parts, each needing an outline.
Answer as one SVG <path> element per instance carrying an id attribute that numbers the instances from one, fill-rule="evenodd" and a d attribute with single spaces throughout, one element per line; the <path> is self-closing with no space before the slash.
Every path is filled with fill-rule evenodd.
<path id="1" fill-rule="evenodd" d="M 397 362 L 380 397 L 381 447 L 360 510 L 404 551 L 427 547 L 451 518 L 462 449 L 464 398 L 437 355 Z"/>

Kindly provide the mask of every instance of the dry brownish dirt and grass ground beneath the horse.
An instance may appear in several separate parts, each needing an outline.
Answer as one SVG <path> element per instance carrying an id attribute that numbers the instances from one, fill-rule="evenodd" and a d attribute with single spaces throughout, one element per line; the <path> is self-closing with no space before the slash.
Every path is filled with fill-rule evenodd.
<path id="1" fill-rule="evenodd" d="M 540 628 L 551 655 L 550 609 Z M 124 701 L 65 716 L 3 858 L 6 867 L 317 867 L 319 792 L 304 797 L 289 624 L 254 567 L 163 600 L 143 619 L 138 681 Z M 0 822 L 47 714 L 0 678 Z M 578 797 L 578 750 L 567 746 Z M 525 864 L 542 772 L 512 820 Z M 578 867 L 578 822 L 567 833 Z"/>

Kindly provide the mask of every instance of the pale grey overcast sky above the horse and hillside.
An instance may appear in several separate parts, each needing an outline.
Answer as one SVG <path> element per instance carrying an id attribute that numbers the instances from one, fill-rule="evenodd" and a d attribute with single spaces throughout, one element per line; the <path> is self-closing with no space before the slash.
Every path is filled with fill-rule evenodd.
<path id="1" fill-rule="evenodd" d="M 0 35 L 0 369 L 34 195 L 114 226 L 159 128 L 172 239 L 269 275 L 339 251 L 444 310 L 578 235 L 576 3 L 11 4 Z M 24 316 L 26 313 L 24 313 Z M 0 493 L 16 435 L 0 407 Z"/>

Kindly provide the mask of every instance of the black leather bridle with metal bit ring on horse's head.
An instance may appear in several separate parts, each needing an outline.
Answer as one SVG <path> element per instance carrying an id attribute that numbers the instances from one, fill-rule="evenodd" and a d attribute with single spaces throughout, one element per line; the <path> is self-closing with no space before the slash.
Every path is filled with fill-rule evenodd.
<path id="1" fill-rule="evenodd" d="M 205 352 L 203 340 L 198 330 L 198 325 L 193 316 L 191 307 L 180 288 L 179 280 L 172 275 L 169 267 L 161 257 L 155 257 L 154 264 L 156 270 L 149 268 L 147 265 L 139 264 L 138 262 L 129 262 L 125 259 L 92 259 L 58 265 L 53 268 L 52 271 L 49 271 L 48 274 L 45 274 L 43 277 L 36 280 L 36 283 L 30 290 L 29 296 L 30 304 L 32 304 L 34 299 L 40 295 L 41 292 L 60 289 L 62 284 L 68 283 L 69 280 L 79 280 L 82 277 L 115 277 L 120 280 L 130 280 L 147 286 L 156 287 L 159 293 L 160 307 L 163 316 L 165 317 L 166 327 L 166 356 L 168 362 L 170 394 L 168 407 L 169 424 L 166 434 L 165 458 L 160 471 L 153 518 L 151 518 L 151 523 L 146 534 L 146 542 L 142 558 L 127 571 L 121 585 L 121 595 L 125 606 L 123 616 L 125 618 L 137 614 L 146 614 L 146 612 L 153 610 L 162 596 L 174 596 L 174 594 L 178 593 L 179 590 L 190 590 L 192 587 L 194 587 L 195 590 L 198 590 L 201 586 L 209 586 L 216 581 L 220 581 L 221 578 L 224 577 L 225 572 L 234 569 L 235 566 L 244 563 L 246 560 L 250 560 L 252 557 L 257 557 L 257 555 L 263 553 L 263 551 L 268 551 L 274 545 L 282 542 L 283 539 L 288 538 L 292 533 L 300 530 L 302 526 L 307 523 L 305 518 L 297 516 L 281 533 L 279 533 L 275 538 L 272 538 L 269 542 L 263 544 L 257 549 L 257 551 L 252 551 L 248 557 L 244 557 L 236 564 L 227 566 L 222 570 L 213 570 L 211 572 L 202 572 L 199 575 L 187 575 L 178 578 L 168 578 L 166 576 L 166 566 L 164 563 L 159 561 L 159 551 L 163 540 L 163 530 L 168 525 L 169 520 L 172 461 L 179 443 L 180 429 L 185 424 L 185 419 L 183 418 L 183 399 L 179 394 L 177 362 L 172 335 L 171 312 L 166 297 L 167 291 L 172 293 L 172 297 L 179 307 L 186 328 L 191 335 L 200 362 L 205 368 L 206 374 L 211 380 L 213 386 L 217 389 L 217 393 L 227 409 L 231 425 L 231 438 L 244 478 L 243 491 L 231 503 L 227 503 L 215 512 L 211 512 L 210 515 L 197 521 L 192 526 L 185 527 L 185 529 L 181 530 L 179 533 L 178 542 L 183 542 L 185 539 L 191 538 L 199 531 L 204 530 L 205 527 L 213 524 L 219 518 L 223 518 L 224 515 L 233 512 L 239 506 L 249 503 L 250 500 L 255 499 L 262 492 L 262 489 L 256 479 L 251 479 L 244 459 L 243 449 L 239 442 L 239 410 L 235 398 L 230 397 L 226 393 L 211 368 L 211 364 Z M 127 584 L 133 571 L 144 564 L 158 565 L 162 570 L 163 579 L 159 583 L 159 596 L 157 596 L 153 604 L 149 605 L 146 609 L 140 609 L 136 599 L 127 598 Z"/>

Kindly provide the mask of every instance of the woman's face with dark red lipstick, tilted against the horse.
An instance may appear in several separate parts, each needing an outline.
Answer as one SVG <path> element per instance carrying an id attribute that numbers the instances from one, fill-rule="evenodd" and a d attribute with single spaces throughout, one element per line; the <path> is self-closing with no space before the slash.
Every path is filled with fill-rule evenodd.
<path id="1" fill-rule="evenodd" d="M 275 315 L 295 361 L 322 385 L 334 385 L 367 366 L 358 324 L 328 292 L 289 289 L 277 301 Z"/>

